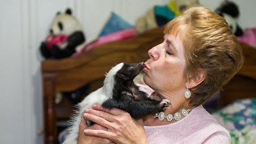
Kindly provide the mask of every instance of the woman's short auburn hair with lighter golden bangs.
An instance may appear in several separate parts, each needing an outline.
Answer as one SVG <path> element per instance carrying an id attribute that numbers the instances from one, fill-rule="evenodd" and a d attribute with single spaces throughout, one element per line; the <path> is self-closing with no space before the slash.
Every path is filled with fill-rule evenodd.
<path id="1" fill-rule="evenodd" d="M 185 78 L 204 70 L 204 81 L 190 89 L 193 106 L 222 90 L 243 65 L 241 46 L 226 20 L 203 6 L 191 7 L 171 20 L 164 33 L 178 36 L 183 43 Z"/>

